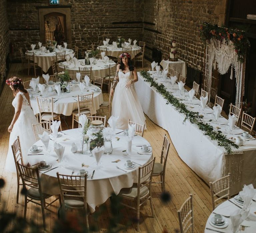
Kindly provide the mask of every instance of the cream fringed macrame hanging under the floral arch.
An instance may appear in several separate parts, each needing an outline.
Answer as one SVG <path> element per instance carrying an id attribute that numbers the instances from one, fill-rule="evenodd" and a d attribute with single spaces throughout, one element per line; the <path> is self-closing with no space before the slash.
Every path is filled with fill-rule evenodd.
<path id="1" fill-rule="evenodd" d="M 236 106 L 240 108 L 243 84 L 243 63 L 239 62 L 237 57 L 237 53 L 231 41 L 229 41 L 227 45 L 225 42 L 221 43 L 216 39 L 209 40 L 206 45 L 204 88 L 210 95 L 212 67 L 214 62 L 217 62 L 218 72 L 221 75 L 226 74 L 230 66 L 233 67 L 236 79 Z M 216 69 L 215 66 L 214 69 Z M 232 78 L 233 69 L 231 69 L 230 75 L 230 79 Z"/>

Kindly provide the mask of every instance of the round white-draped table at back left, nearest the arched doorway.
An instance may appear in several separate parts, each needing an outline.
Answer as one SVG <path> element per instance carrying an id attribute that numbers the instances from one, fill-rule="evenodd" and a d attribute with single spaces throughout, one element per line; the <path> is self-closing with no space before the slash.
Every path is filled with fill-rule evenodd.
<path id="1" fill-rule="evenodd" d="M 37 65 L 42 68 L 43 72 L 46 73 L 52 66 L 51 60 L 54 58 L 54 61 L 56 62 L 56 52 L 59 53 L 64 51 L 66 51 L 66 55 L 74 52 L 72 49 L 62 49 L 61 51 L 55 49 L 55 51 L 51 53 L 42 53 L 40 50 L 35 49 L 34 51 L 31 50 L 29 52 L 34 52 L 35 63 L 37 63 Z"/>

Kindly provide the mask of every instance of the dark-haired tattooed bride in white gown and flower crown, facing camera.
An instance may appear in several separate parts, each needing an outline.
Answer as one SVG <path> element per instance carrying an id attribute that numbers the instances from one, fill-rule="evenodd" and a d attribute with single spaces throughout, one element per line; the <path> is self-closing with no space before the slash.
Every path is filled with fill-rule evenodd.
<path id="1" fill-rule="evenodd" d="M 112 115 L 119 116 L 116 128 L 127 129 L 128 120 L 145 124 L 145 116 L 135 92 L 134 83 L 138 81 L 136 68 L 132 65 L 131 55 L 123 53 L 110 95 L 113 96 Z"/>

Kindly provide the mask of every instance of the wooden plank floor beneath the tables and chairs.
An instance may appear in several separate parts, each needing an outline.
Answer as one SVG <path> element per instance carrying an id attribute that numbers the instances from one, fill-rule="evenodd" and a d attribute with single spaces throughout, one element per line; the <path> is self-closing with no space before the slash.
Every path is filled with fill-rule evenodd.
<path id="1" fill-rule="evenodd" d="M 150 64 L 147 62 L 146 66 L 150 67 Z M 31 77 L 33 77 L 28 77 L 26 74 L 21 73 L 21 64 L 11 65 L 9 77 L 11 76 L 19 76 L 23 79 L 23 81 L 29 80 Z M 103 96 L 105 100 L 108 100 L 108 95 L 106 93 L 104 93 Z M 23 216 L 23 196 L 20 196 L 19 204 L 16 204 L 16 175 L 3 172 L 9 143 L 9 133 L 7 131 L 7 128 L 14 114 L 14 108 L 11 105 L 12 100 L 12 92 L 10 88 L 5 85 L 0 97 L 0 177 L 4 178 L 6 183 L 4 188 L 1 189 L 0 210 L 8 212 L 16 211 L 19 216 Z M 99 112 L 97 115 L 104 116 L 105 113 Z M 68 124 L 71 125 L 71 117 L 66 117 L 66 119 L 68 121 Z M 64 123 L 62 124 L 62 126 L 64 129 L 67 129 Z M 153 154 L 156 157 L 156 162 L 160 162 L 160 150 L 162 146 L 163 135 L 165 133 L 168 135 L 168 132 L 166 130 L 154 124 L 147 117 L 147 130 L 144 133 L 144 137 L 152 145 Z M 153 177 L 153 180 L 159 181 L 159 177 Z M 164 204 L 161 202 L 160 199 L 161 185 L 152 184 L 155 218 L 151 217 L 149 203 L 145 203 L 141 207 L 140 211 L 141 232 L 158 233 L 162 232 L 163 229 L 166 229 L 167 232 L 175 232 L 175 229 L 179 229 L 177 209 L 179 209 L 182 203 L 187 199 L 189 193 L 192 193 L 194 198 L 194 232 L 204 232 L 205 223 L 208 218 L 207 216 L 209 216 L 211 213 L 210 189 L 207 184 L 203 182 L 179 158 L 172 143 L 166 166 L 166 190 L 171 195 L 171 201 L 169 201 L 167 204 Z M 56 202 L 56 204 L 51 207 L 52 212 L 46 212 L 47 232 L 51 232 L 54 227 L 54 222 L 57 219 L 58 204 L 59 203 Z M 103 205 L 107 207 L 107 211 L 101 214 L 101 210 L 99 208 L 96 209 L 96 213 L 98 213 L 100 216 L 97 221 L 93 220 L 92 217 L 89 217 L 90 224 L 95 224 L 100 229 L 100 232 L 106 232 L 108 226 L 108 219 L 110 216 L 110 201 L 107 200 L 106 203 L 104 203 Z M 122 232 L 136 232 L 136 224 L 132 223 L 130 226 L 126 227 L 127 222 L 131 221 L 131 219 L 135 219 L 136 213 L 131 209 L 124 208 L 121 214 L 124 216 L 121 225 L 126 229 Z M 35 204 L 30 203 L 28 205 L 27 218 L 33 219 L 38 225 L 40 225 L 42 224 L 41 216 L 41 210 L 38 209 Z"/>

